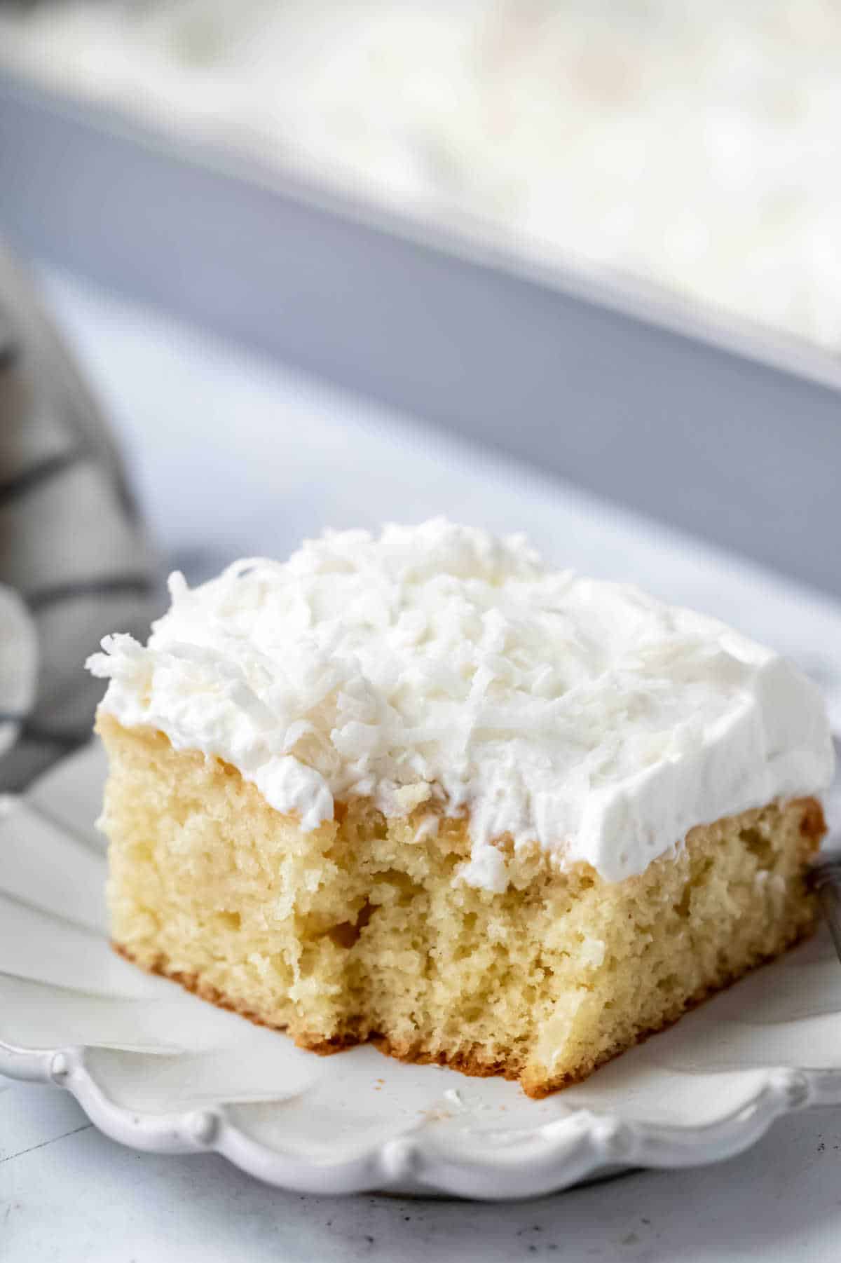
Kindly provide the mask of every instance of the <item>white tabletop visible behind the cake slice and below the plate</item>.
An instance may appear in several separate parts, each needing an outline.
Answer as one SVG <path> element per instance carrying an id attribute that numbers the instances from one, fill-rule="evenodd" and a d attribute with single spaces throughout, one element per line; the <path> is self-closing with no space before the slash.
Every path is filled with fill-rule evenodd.
<path id="1" fill-rule="evenodd" d="M 160 549 L 188 575 L 283 554 L 327 524 L 447 513 L 525 529 L 562 565 L 633 578 L 778 644 L 823 679 L 841 716 L 841 608 L 828 599 L 66 277 L 44 280 Z M 534 1202 L 326 1200 L 264 1187 L 217 1157 L 134 1153 L 67 1094 L 0 1080 L 4 1263 L 837 1263 L 840 1177 L 841 1111 L 823 1110 L 726 1163 Z"/>

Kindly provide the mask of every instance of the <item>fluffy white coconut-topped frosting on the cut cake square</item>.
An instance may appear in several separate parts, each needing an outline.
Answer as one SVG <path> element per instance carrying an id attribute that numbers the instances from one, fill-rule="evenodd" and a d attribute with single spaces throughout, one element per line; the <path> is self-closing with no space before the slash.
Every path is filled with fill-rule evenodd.
<path id="1" fill-rule="evenodd" d="M 787 661 L 548 571 L 522 537 L 442 519 L 327 533 L 169 590 L 145 648 L 106 637 L 88 661 L 105 711 L 232 763 L 307 830 L 354 794 L 466 811 L 460 875 L 486 889 L 506 887 L 505 834 L 620 880 L 693 825 L 832 777 L 820 693 Z"/>

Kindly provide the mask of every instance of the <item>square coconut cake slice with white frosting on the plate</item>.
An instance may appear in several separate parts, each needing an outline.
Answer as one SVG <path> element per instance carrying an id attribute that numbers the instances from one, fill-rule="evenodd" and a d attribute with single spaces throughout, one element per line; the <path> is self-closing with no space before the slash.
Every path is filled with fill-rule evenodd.
<path id="1" fill-rule="evenodd" d="M 539 1096 L 812 930 L 825 709 L 715 619 L 443 520 L 169 590 L 88 663 L 144 969 Z"/>

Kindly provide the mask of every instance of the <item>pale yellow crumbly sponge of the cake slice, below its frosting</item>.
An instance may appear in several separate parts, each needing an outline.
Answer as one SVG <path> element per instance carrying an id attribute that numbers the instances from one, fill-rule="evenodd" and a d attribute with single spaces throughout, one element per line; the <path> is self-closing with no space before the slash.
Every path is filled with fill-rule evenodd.
<path id="1" fill-rule="evenodd" d="M 540 1096 L 813 927 L 814 798 L 698 826 L 617 883 L 520 847 L 494 893 L 457 879 L 461 818 L 431 834 L 428 808 L 357 798 L 304 832 L 230 764 L 98 729 L 117 950 L 316 1052 L 373 1039 Z"/>

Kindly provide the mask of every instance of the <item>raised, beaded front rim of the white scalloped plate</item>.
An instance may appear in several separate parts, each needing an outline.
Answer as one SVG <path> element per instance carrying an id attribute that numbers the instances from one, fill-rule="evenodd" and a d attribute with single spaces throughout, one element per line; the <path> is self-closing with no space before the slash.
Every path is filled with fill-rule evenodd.
<path id="1" fill-rule="evenodd" d="M 841 1068 L 777 1066 L 745 1071 L 756 1086 L 720 1119 L 678 1125 L 623 1119 L 588 1108 L 542 1123 L 510 1148 L 458 1154 L 427 1125 L 336 1162 L 277 1149 L 240 1128 L 230 1106 L 170 1113 L 114 1101 L 87 1065 L 90 1046 L 24 1048 L 0 1039 L 0 1074 L 69 1091 L 112 1140 L 150 1153 L 218 1153 L 265 1183 L 304 1194 L 395 1191 L 504 1201 L 539 1197 L 606 1168 L 679 1168 L 734 1157 L 770 1125 L 807 1108 L 841 1104 Z"/>

